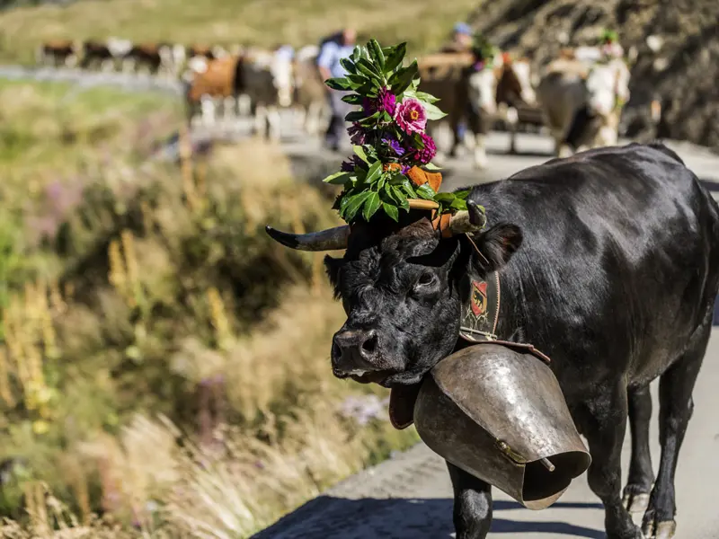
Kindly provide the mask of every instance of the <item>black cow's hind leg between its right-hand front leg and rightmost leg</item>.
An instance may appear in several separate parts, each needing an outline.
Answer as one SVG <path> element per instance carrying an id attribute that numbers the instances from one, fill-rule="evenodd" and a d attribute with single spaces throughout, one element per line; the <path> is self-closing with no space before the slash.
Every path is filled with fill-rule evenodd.
<path id="1" fill-rule="evenodd" d="M 652 419 L 652 395 L 649 386 L 629 390 L 629 428 L 632 435 L 632 457 L 629 479 L 624 488 L 624 507 L 640 513 L 649 504 L 654 472 L 649 449 L 649 421 Z"/>

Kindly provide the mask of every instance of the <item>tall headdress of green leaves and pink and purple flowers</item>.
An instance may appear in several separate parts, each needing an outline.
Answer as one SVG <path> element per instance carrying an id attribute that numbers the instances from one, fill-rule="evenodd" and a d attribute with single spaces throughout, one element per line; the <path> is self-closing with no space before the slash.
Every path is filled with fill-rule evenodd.
<path id="1" fill-rule="evenodd" d="M 360 107 L 345 116 L 354 155 L 324 179 L 343 186 L 333 208 L 350 225 L 359 217 L 368 221 L 380 209 L 395 221 L 411 206 L 439 216 L 467 209 L 468 190 L 439 193 L 441 176 L 426 172 L 439 170 L 431 163 L 437 147 L 425 132 L 427 121 L 446 114 L 433 104 L 437 98 L 417 90 L 417 60 L 403 66 L 405 52 L 405 42 L 382 48 L 369 40 L 340 60 L 348 75 L 325 81 L 351 92 L 342 101 Z"/>

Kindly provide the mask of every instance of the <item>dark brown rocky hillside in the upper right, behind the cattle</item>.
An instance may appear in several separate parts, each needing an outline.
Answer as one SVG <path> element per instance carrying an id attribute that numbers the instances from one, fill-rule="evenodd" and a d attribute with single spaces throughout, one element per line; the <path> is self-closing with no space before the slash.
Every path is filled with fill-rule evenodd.
<path id="1" fill-rule="evenodd" d="M 470 22 L 502 49 L 536 67 L 567 45 L 593 44 L 602 28 L 635 48 L 631 101 L 623 124 L 630 137 L 653 137 L 649 103 L 659 99 L 659 137 L 719 150 L 719 2 L 717 0 L 493 0 Z"/>

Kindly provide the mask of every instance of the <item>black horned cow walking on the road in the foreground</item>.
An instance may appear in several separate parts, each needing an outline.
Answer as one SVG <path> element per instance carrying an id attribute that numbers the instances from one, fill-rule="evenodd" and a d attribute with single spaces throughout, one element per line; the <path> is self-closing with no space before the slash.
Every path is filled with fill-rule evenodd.
<path id="1" fill-rule="evenodd" d="M 476 186 L 470 199 L 486 208 L 487 228 L 474 238 L 482 256 L 462 235 L 438 239 L 426 219 L 395 230 L 357 224 L 349 237 L 342 229 L 301 236 L 268 228 L 295 248 L 347 245 L 342 259 L 325 258 L 348 315 L 333 339 L 334 374 L 417 384 L 461 346 L 457 283 L 469 264 L 484 275 L 498 271 L 497 333 L 552 358 L 590 444 L 589 484 L 611 538 L 642 536 L 622 505 L 620 453 L 630 403 L 633 428 L 642 430 L 646 387 L 660 377 L 661 466 L 643 528 L 670 537 L 679 447 L 719 287 L 714 199 L 661 144 L 553 159 Z M 651 467 L 641 453 L 633 460 L 627 488 L 647 492 Z M 457 538 L 482 538 L 492 519 L 490 486 L 448 467 Z"/>

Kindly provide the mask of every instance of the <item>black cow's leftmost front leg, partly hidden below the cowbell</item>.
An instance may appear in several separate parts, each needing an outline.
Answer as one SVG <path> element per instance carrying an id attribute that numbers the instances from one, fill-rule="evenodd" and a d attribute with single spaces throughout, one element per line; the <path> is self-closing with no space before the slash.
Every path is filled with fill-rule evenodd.
<path id="1" fill-rule="evenodd" d="M 492 486 L 447 463 L 455 493 L 453 519 L 457 539 L 484 539 L 492 526 Z"/>

